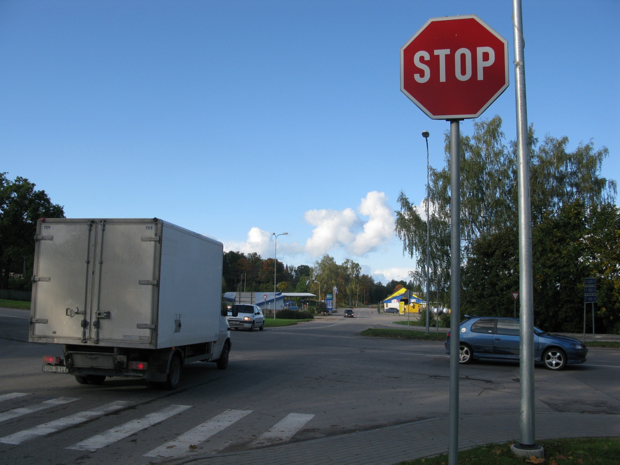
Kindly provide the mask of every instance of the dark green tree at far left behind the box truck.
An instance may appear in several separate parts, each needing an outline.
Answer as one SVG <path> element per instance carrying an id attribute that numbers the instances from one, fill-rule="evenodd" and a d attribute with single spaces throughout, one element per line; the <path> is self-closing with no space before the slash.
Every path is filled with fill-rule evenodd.
<path id="1" fill-rule="evenodd" d="M 63 207 L 51 203 L 44 190 L 23 177 L 0 174 L 0 288 L 9 287 L 9 273 L 21 271 L 24 257 L 32 257 L 39 218 L 64 218 Z M 32 263 L 32 258 L 29 260 Z M 19 268 L 14 270 L 14 265 Z M 32 266 L 27 273 L 32 274 Z"/>

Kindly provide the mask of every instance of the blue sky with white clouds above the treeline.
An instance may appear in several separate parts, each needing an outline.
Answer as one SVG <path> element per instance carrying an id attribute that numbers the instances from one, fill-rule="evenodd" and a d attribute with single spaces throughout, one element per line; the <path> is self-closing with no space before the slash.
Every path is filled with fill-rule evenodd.
<path id="1" fill-rule="evenodd" d="M 2 171 L 71 218 L 157 216 L 229 249 L 381 280 L 413 266 L 390 228 L 425 192 L 445 121 L 400 91 L 399 48 L 430 17 L 510 1 L 0 1 Z M 620 2 L 523 1 L 528 120 L 609 148 L 620 179 Z M 515 137 L 510 87 L 482 117 Z M 615 129 L 614 129 L 615 128 Z M 462 125 L 471 133 L 472 122 Z"/>

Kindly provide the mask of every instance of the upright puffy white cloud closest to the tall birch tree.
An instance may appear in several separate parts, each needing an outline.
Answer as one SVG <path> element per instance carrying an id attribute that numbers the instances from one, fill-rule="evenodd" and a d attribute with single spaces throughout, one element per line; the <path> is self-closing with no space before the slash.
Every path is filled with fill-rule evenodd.
<path id="1" fill-rule="evenodd" d="M 385 193 L 376 190 L 361 199 L 358 211 L 369 219 L 364 223 L 364 231 L 355 237 L 348 248 L 353 255 L 366 255 L 394 236 L 394 211 L 386 200 Z"/>

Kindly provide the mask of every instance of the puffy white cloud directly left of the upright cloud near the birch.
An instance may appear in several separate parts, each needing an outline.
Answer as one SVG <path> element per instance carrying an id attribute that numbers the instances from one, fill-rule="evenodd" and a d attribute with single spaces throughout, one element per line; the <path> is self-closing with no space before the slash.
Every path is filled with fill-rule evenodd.
<path id="1" fill-rule="evenodd" d="M 352 208 L 336 210 L 308 210 L 304 218 L 312 226 L 312 237 L 306 241 L 306 251 L 314 257 L 326 254 L 336 246 L 347 246 L 355 240 L 352 228 L 359 226 L 360 219 Z"/>

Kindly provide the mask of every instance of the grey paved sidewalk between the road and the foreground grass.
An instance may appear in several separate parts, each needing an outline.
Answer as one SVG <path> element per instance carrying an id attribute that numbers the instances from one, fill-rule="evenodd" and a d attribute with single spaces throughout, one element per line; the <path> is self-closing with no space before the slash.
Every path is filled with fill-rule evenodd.
<path id="1" fill-rule="evenodd" d="M 536 415 L 538 440 L 560 437 L 620 436 L 620 415 Z M 518 414 L 461 417 L 459 448 L 517 440 Z M 186 457 L 181 465 L 392 465 L 404 460 L 446 453 L 448 418 L 241 452 Z"/>

